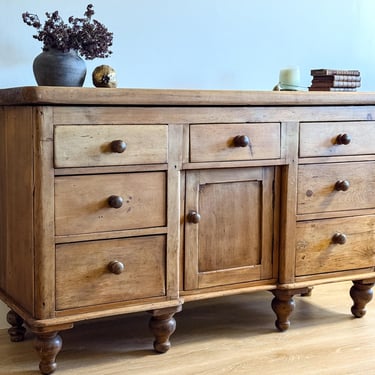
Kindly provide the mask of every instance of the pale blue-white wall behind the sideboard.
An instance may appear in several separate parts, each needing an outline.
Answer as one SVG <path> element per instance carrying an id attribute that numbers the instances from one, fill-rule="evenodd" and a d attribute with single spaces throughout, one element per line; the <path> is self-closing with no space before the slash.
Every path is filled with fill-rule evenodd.
<path id="1" fill-rule="evenodd" d="M 89 0 L 0 0 L 0 88 L 35 85 L 41 45 L 21 13 L 58 9 L 81 16 Z M 102 63 L 120 87 L 269 90 L 279 70 L 359 69 L 361 91 L 375 88 L 373 0 L 105 0 L 96 17 L 114 32 L 114 54 L 88 62 L 85 86 Z M 1 268 L 1 264 L 0 264 Z M 6 326 L 0 304 L 0 327 Z"/>

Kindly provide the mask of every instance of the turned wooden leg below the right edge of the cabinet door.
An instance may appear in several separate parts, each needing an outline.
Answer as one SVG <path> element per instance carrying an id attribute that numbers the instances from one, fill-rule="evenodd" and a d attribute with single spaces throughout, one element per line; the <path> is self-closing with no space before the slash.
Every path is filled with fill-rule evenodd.
<path id="1" fill-rule="evenodd" d="M 293 296 L 307 292 L 308 288 L 276 289 L 272 291 L 275 296 L 272 300 L 272 310 L 276 314 L 275 326 L 279 331 L 286 331 L 290 327 L 289 317 L 295 306 Z"/>

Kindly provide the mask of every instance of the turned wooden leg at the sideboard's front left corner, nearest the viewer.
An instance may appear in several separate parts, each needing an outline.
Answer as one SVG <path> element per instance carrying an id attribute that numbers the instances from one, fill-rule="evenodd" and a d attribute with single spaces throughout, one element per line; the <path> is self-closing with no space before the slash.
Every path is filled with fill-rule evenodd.
<path id="1" fill-rule="evenodd" d="M 62 348 L 62 340 L 57 332 L 37 333 L 34 348 L 39 354 L 39 370 L 43 375 L 56 370 L 56 356 Z"/>

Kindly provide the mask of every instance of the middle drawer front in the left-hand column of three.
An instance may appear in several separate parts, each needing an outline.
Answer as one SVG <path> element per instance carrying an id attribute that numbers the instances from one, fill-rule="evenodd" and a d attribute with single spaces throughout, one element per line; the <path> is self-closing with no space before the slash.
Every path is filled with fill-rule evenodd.
<path id="1" fill-rule="evenodd" d="M 118 197 L 122 205 L 116 208 Z M 55 219 L 56 235 L 164 226 L 166 174 L 57 177 Z"/>

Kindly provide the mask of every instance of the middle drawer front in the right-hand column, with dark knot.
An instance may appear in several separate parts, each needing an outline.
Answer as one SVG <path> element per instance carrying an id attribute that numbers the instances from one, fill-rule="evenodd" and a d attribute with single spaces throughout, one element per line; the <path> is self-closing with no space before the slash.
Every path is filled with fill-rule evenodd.
<path id="1" fill-rule="evenodd" d="M 300 165 L 297 213 L 375 208 L 374 191 L 374 162 Z"/>

